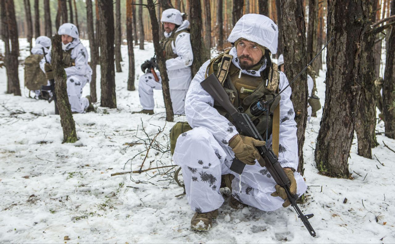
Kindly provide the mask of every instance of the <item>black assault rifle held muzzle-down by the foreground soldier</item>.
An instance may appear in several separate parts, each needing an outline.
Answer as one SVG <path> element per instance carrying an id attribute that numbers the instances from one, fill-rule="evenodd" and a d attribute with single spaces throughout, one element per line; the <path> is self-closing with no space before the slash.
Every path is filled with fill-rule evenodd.
<path id="1" fill-rule="evenodd" d="M 237 128 L 237 131 L 242 133 L 243 135 L 255 138 L 260 141 L 264 141 L 261 137 L 260 133 L 256 129 L 255 125 L 252 123 L 251 118 L 246 113 L 239 112 L 231 103 L 228 94 L 225 92 L 221 83 L 218 81 L 218 78 L 214 73 L 209 75 L 207 79 L 200 83 L 201 86 L 214 98 L 216 102 L 218 102 L 233 118 L 234 124 Z M 292 194 L 290 191 L 290 180 L 282 169 L 280 163 L 278 163 L 278 158 L 276 154 L 267 146 L 257 146 L 258 152 L 261 155 L 261 160 L 259 160 L 259 164 L 262 167 L 266 167 L 269 171 L 273 179 L 276 181 L 276 184 L 280 185 L 285 189 L 288 199 L 291 202 L 291 205 L 295 209 L 298 214 L 298 217 L 305 224 L 308 232 L 311 236 L 316 236 L 316 232 L 311 227 L 309 218 L 312 218 L 314 214 L 304 215 L 300 210 L 299 206 L 296 203 L 296 200 L 299 198 L 296 194 Z M 237 158 L 233 159 L 232 165 L 230 169 L 236 173 L 241 174 L 243 172 L 245 163 L 242 163 Z"/>

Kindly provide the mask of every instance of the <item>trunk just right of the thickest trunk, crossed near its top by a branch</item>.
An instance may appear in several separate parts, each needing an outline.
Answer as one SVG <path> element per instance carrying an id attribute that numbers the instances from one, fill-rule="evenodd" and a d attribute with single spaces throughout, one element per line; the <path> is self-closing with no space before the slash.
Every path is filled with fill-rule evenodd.
<path id="1" fill-rule="evenodd" d="M 373 11 L 374 0 L 363 1 L 365 19 L 376 21 L 376 13 Z M 372 158 L 372 148 L 378 145 L 376 140 L 376 101 L 374 86 L 374 39 L 375 35 L 370 30 L 361 32 L 361 65 L 360 72 L 362 82 L 361 101 L 355 131 L 358 138 L 358 155 Z"/>

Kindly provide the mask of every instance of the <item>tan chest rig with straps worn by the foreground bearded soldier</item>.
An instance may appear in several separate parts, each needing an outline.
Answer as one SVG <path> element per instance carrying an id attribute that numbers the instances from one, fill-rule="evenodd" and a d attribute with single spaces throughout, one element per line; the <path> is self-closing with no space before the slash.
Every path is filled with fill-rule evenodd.
<path id="1" fill-rule="evenodd" d="M 278 66 L 272 64 L 261 72 L 260 76 L 240 74 L 240 69 L 232 63 L 232 55 L 229 51 L 217 56 L 210 61 L 207 67 L 206 78 L 211 73 L 216 72 L 218 80 L 221 82 L 233 105 L 248 114 L 264 139 L 269 139 L 273 133 L 273 151 L 278 156 L 278 137 L 280 124 L 280 99 L 278 96 L 270 105 L 269 111 L 263 112 L 260 116 L 250 113 L 250 106 L 256 104 L 260 99 L 271 101 L 278 94 L 278 84 L 280 74 Z M 257 72 L 257 71 L 252 71 Z M 239 78 L 240 76 L 240 78 Z M 233 119 L 225 109 L 214 101 L 214 108 L 230 122 Z"/>

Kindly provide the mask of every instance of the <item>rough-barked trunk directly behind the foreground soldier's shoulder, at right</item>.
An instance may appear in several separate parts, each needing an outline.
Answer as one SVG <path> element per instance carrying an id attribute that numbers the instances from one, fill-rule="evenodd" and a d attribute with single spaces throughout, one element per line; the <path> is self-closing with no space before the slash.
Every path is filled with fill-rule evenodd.
<path id="1" fill-rule="evenodd" d="M 301 0 L 281 0 L 282 36 L 284 39 L 284 68 L 292 79 L 306 66 L 306 27 Z M 291 84 L 291 100 L 295 111 L 299 165 L 303 175 L 303 144 L 307 124 L 307 74 L 306 72 Z"/>

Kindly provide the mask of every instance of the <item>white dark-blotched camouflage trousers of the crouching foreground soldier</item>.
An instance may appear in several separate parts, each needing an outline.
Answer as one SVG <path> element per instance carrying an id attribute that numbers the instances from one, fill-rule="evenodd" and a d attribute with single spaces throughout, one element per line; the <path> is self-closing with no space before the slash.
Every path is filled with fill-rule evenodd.
<path id="1" fill-rule="evenodd" d="M 229 146 L 220 145 L 213 134 L 205 128 L 197 127 L 182 133 L 173 154 L 174 162 L 181 166 L 188 203 L 196 212 L 210 212 L 218 209 L 224 198 L 219 192 L 221 175 L 232 173 L 232 195 L 240 202 L 263 211 L 273 211 L 282 207 L 280 197 L 272 197 L 276 182 L 265 167 L 256 161 L 246 165 L 240 176 L 229 170 L 234 153 Z M 297 194 L 302 195 L 307 186 L 303 177 L 295 172 Z"/>

